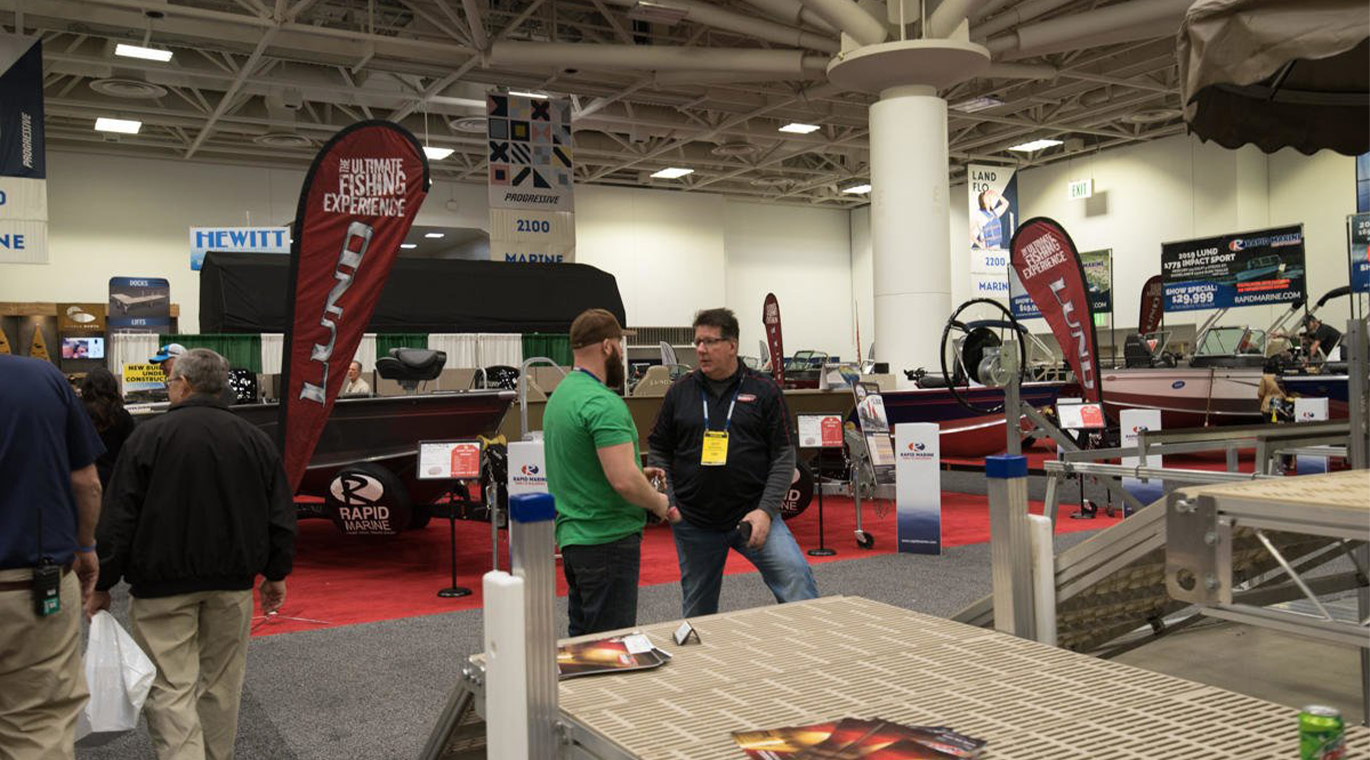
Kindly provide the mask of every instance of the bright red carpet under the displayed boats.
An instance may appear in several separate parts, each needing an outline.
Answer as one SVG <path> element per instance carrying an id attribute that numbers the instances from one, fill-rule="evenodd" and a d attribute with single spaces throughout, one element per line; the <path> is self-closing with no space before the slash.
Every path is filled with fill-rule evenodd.
<path id="1" fill-rule="evenodd" d="M 1041 512 L 1041 503 L 1033 503 L 1033 511 Z M 1069 504 L 1062 505 L 1062 516 L 1071 511 Z M 826 545 L 837 549 L 837 556 L 808 557 L 808 561 L 817 564 L 893 552 L 893 504 L 878 503 L 877 508 L 871 508 L 867 503 L 862 518 L 866 531 L 875 537 L 873 549 L 856 546 L 852 501 L 823 498 Z M 1097 530 L 1117 522 L 1117 518 L 1100 514 L 1093 520 L 1062 519 L 1056 530 Z M 807 550 L 818 546 L 817 503 L 788 524 L 801 548 Z M 944 492 L 943 545 L 960 546 L 988 540 L 986 497 Z M 474 593 L 460 598 L 440 598 L 438 589 L 451 583 L 447 520 L 434 519 L 425 530 L 395 538 L 351 538 L 338 533 L 327 520 L 303 520 L 285 607 L 279 615 L 255 619 L 252 633 L 270 635 L 480 607 L 481 577 L 490 570 L 490 526 L 458 520 L 456 541 L 458 585 Z M 507 556 L 500 560 L 500 567 L 508 568 Z M 733 552 L 726 572 L 755 570 Z M 680 567 L 670 530 L 664 526 L 647 529 L 643 537 L 641 583 L 651 586 L 678 582 Z M 558 594 L 566 594 L 560 567 Z"/>

